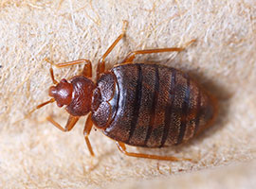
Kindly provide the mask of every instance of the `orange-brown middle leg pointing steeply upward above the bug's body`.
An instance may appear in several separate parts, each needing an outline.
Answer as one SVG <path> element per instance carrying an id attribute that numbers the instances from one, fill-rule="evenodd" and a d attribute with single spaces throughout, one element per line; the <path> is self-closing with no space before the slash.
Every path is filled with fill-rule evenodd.
<path id="1" fill-rule="evenodd" d="M 119 41 L 123 38 L 123 36 L 125 35 L 126 32 L 126 28 L 128 26 L 128 22 L 127 21 L 123 21 L 123 26 L 122 26 L 122 32 L 119 35 L 119 37 L 115 40 L 114 43 L 112 43 L 108 49 L 106 50 L 106 52 L 104 53 L 104 55 L 101 57 L 101 59 L 98 62 L 98 66 L 97 66 L 97 79 L 100 77 L 101 73 L 103 73 L 105 71 L 105 59 L 106 57 L 109 55 L 109 53 L 113 50 L 113 48 L 117 45 L 117 43 L 119 43 Z"/>

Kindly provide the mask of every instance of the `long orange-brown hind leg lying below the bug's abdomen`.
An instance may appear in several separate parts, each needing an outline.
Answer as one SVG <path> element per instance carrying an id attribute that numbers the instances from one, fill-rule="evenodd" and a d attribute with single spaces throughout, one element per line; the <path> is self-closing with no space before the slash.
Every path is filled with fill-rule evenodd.
<path id="1" fill-rule="evenodd" d="M 150 154 L 144 154 L 144 153 L 127 152 L 125 145 L 121 142 L 117 142 L 117 146 L 118 146 L 119 150 L 127 156 L 133 156 L 133 157 L 137 157 L 137 158 L 172 161 L 172 162 L 192 161 L 191 159 L 187 159 L 187 158 L 175 158 L 172 156 L 156 156 L 156 155 L 150 155 Z"/>

